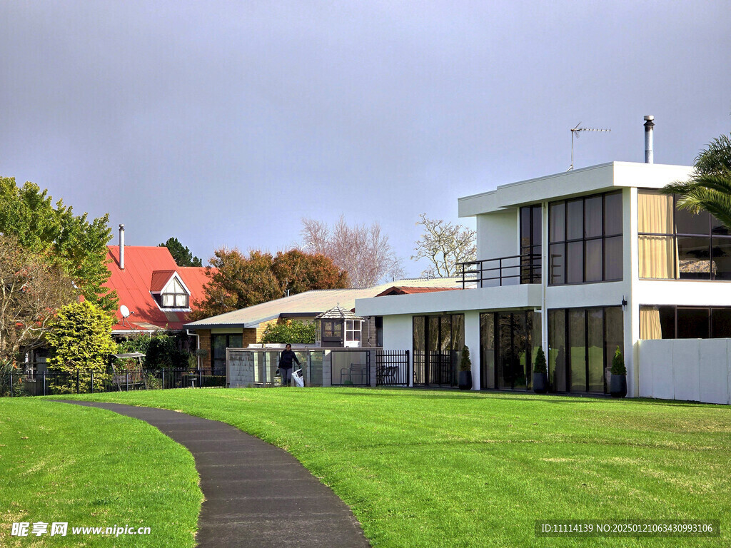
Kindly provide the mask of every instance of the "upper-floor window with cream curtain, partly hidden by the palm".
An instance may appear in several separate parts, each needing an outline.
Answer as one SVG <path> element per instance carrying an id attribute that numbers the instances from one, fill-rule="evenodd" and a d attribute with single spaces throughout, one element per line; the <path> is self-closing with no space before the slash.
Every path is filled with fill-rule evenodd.
<path id="1" fill-rule="evenodd" d="M 640 278 L 730 280 L 731 235 L 710 213 L 677 207 L 678 197 L 637 194 Z"/>

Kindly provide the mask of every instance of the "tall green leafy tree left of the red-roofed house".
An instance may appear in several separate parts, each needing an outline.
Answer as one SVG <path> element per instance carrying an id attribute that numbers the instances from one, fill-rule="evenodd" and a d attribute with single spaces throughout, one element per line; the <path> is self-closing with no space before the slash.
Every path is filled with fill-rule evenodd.
<path id="1" fill-rule="evenodd" d="M 104 287 L 109 279 L 107 243 L 112 239 L 109 215 L 88 221 L 75 216 L 62 200 L 53 204 L 48 190 L 34 183 L 22 187 L 15 178 L 0 178 L 0 234 L 18 238 L 50 265 L 64 268 L 79 291 L 91 302 L 113 311 L 117 295 Z"/>

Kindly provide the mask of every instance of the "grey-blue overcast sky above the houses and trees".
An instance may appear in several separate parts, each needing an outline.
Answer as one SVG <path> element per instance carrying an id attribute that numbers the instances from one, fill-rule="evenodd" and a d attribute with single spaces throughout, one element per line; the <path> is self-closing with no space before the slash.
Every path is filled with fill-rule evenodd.
<path id="1" fill-rule="evenodd" d="M 731 129 L 727 1 L 4 1 L 0 175 L 114 239 L 285 250 L 575 167 L 692 164 Z"/>

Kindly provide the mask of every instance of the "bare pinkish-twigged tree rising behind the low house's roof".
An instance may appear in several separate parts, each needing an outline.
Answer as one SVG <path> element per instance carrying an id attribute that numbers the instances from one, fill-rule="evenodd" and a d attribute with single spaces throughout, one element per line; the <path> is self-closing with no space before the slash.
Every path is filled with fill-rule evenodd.
<path id="1" fill-rule="evenodd" d="M 302 248 L 322 254 L 348 273 L 350 287 L 373 287 L 404 275 L 401 259 L 388 243 L 379 223 L 349 226 L 341 216 L 332 228 L 322 221 L 302 219 Z"/>

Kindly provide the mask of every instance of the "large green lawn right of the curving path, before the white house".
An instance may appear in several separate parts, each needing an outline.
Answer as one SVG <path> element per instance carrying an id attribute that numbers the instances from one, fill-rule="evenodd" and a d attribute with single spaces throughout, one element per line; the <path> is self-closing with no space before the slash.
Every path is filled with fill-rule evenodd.
<path id="1" fill-rule="evenodd" d="M 287 449 L 377 547 L 731 544 L 727 406 L 357 388 L 84 399 L 180 410 Z M 552 518 L 718 519 L 722 536 L 536 538 L 534 520 Z"/>

